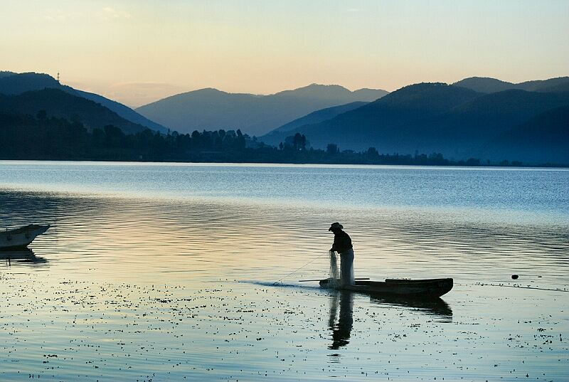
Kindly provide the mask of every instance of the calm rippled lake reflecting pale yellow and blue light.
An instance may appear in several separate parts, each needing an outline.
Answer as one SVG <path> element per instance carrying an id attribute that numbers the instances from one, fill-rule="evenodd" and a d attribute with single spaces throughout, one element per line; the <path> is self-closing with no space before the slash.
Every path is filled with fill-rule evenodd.
<path id="1" fill-rule="evenodd" d="M 0 381 L 568 381 L 567 169 L 0 161 Z M 453 277 L 435 302 L 321 289 Z M 511 275 L 519 275 L 512 280 Z"/>

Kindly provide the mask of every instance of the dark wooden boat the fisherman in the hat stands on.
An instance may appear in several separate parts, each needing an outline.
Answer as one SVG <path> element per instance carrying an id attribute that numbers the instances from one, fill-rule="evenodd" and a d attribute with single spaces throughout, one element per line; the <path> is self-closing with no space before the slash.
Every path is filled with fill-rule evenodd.
<path id="1" fill-rule="evenodd" d="M 320 280 L 321 287 L 330 287 L 331 285 L 339 285 L 339 283 L 331 283 L 331 279 Z M 384 282 L 356 280 L 356 285 L 346 285 L 339 289 L 373 295 L 436 298 L 452 290 L 452 285 L 453 280 L 450 278 L 427 280 L 386 279 Z"/>

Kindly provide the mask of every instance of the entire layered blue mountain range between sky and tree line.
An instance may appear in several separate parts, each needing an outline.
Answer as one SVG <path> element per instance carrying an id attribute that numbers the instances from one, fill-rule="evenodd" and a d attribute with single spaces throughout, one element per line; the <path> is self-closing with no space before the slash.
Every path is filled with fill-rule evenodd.
<path id="1" fill-rule="evenodd" d="M 41 110 L 43 117 L 81 122 L 87 129 L 112 124 L 125 133 L 166 132 L 161 122 L 173 129 L 184 126 L 177 129 L 181 133 L 242 129 L 277 147 L 299 133 L 308 147 L 321 149 L 334 143 L 341 150 L 375 147 L 383 154 L 438 152 L 450 159 L 569 164 L 568 77 L 518 84 L 473 77 L 390 93 L 315 84 L 274 95 L 208 88 L 132 110 L 60 85 L 49 75 L 0 72 L 0 112 L 33 119 Z M 154 122 L 151 112 L 167 121 Z"/>

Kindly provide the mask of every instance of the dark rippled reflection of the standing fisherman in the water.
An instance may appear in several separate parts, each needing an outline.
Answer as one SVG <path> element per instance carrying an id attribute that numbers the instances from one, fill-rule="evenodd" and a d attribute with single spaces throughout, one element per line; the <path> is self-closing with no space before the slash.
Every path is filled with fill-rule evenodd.
<path id="1" fill-rule="evenodd" d="M 338 301 L 339 300 L 339 301 Z M 336 312 L 340 307 L 340 316 L 336 324 Z M 349 344 L 353 326 L 353 293 L 342 291 L 336 293 L 330 301 L 330 319 L 328 326 L 332 331 L 332 344 L 328 349 L 339 349 Z"/>

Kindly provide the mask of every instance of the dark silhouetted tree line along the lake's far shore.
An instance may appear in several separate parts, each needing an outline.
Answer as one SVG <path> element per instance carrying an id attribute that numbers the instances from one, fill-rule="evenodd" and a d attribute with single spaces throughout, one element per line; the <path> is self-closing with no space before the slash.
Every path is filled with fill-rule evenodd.
<path id="1" fill-rule="evenodd" d="M 81 122 L 48 117 L 43 111 L 35 117 L 0 113 L 0 159 L 482 165 L 479 159 L 452 161 L 440 153 L 380 154 L 374 147 L 363 152 L 341 150 L 337 143 L 328 144 L 324 150 L 314 149 L 299 133 L 278 147 L 259 142 L 239 129 L 196 130 L 191 134 L 145 129 L 124 134 L 112 125 L 87 129 Z M 507 165 L 519 166 L 521 162 Z"/>

